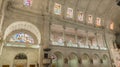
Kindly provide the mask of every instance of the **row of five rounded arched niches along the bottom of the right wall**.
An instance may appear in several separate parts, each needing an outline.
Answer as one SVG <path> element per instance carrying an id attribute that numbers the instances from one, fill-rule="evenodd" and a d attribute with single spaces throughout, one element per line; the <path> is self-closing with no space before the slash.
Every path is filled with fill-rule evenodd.
<path id="1" fill-rule="evenodd" d="M 92 67 L 110 67 L 109 58 L 107 55 L 103 55 L 100 58 L 97 54 L 90 57 L 88 54 L 77 56 L 77 54 L 72 53 L 67 57 L 63 57 L 63 53 L 55 52 L 50 57 L 52 59 L 52 67 L 66 67 L 64 64 L 67 64 L 69 67 L 90 67 L 90 65 L 92 65 Z"/>

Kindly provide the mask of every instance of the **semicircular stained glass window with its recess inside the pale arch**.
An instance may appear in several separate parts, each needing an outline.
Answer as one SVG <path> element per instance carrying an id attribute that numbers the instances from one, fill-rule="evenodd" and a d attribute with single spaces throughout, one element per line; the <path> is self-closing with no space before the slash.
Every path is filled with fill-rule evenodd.
<path id="1" fill-rule="evenodd" d="M 7 43 L 13 43 L 15 42 L 16 44 L 34 44 L 38 45 L 38 40 L 37 37 L 31 33 L 30 31 L 27 30 L 15 30 L 12 31 L 7 38 L 5 39 Z"/>

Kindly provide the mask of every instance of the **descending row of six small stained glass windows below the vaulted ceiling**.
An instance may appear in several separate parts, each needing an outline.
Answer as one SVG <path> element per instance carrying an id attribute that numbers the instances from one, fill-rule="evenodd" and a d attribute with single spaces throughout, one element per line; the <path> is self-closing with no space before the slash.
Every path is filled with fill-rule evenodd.
<path id="1" fill-rule="evenodd" d="M 59 3 L 55 3 L 54 4 L 54 14 L 56 15 L 61 15 L 61 10 L 62 9 L 62 5 L 59 4 Z M 73 15 L 74 15 L 74 11 L 73 11 L 73 8 L 70 8 L 68 7 L 67 8 L 67 12 L 66 12 L 66 17 L 67 18 L 73 18 Z M 78 21 L 84 21 L 84 13 L 82 11 L 79 11 L 78 12 L 78 15 L 77 15 L 77 20 Z M 87 17 L 87 23 L 89 24 L 93 24 L 93 16 L 92 15 L 88 15 Z M 97 27 L 100 27 L 102 26 L 102 19 L 100 17 L 97 17 L 96 20 L 95 20 L 95 25 Z M 110 25 L 110 29 L 113 30 L 114 29 L 114 24 Z"/>

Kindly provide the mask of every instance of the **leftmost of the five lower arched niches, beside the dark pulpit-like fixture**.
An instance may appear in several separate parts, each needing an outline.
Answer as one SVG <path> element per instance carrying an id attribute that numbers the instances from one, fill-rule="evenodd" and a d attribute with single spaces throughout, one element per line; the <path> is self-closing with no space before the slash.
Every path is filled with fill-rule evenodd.
<path id="1" fill-rule="evenodd" d="M 52 67 L 63 67 L 63 54 L 61 52 L 55 52 L 53 57 L 54 58 L 52 58 Z"/>

